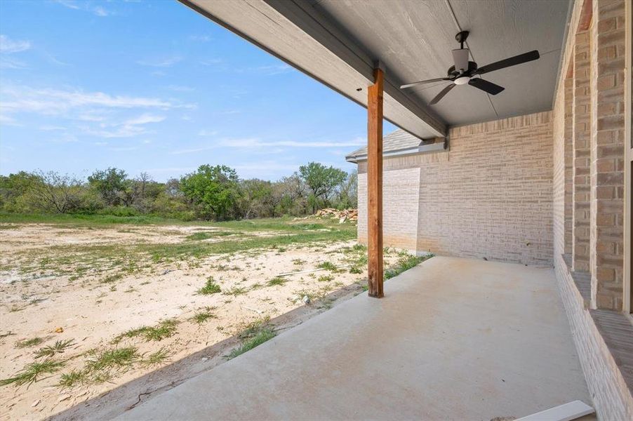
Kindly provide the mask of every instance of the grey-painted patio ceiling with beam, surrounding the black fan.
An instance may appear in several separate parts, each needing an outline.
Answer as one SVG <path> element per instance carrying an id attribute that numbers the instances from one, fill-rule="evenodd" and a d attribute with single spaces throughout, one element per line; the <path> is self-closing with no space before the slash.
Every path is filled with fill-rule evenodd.
<path id="1" fill-rule="evenodd" d="M 570 5 L 567 0 L 180 1 L 363 106 L 380 61 L 385 119 L 420 138 L 444 136 L 448 126 L 551 109 Z M 446 83 L 401 90 L 402 83 L 446 74 L 460 29 L 471 32 L 471 60 L 480 66 L 531 50 L 541 58 L 486 74 L 505 87 L 496 96 L 460 86 L 429 107 Z"/>

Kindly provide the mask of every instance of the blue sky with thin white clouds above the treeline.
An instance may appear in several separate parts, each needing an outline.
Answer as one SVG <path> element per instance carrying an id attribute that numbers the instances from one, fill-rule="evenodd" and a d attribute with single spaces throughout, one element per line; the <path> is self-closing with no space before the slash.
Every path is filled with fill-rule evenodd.
<path id="1" fill-rule="evenodd" d="M 2 175 L 277 180 L 365 142 L 366 109 L 177 1 L 0 1 Z"/>

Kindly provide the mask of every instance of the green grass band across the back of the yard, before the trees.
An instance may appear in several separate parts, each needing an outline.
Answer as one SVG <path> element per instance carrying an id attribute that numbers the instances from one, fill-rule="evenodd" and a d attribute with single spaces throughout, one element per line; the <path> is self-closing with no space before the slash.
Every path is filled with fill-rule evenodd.
<path id="1" fill-rule="evenodd" d="M 218 238 L 218 241 L 183 241 L 181 243 L 137 243 L 124 244 L 81 244 L 51 246 L 44 251 L 29 250 L 25 252 L 25 261 L 21 263 L 23 272 L 39 271 L 40 262 L 45 262 L 47 269 L 72 275 L 69 267 L 101 267 L 101 272 L 116 270 L 116 274 L 105 276 L 103 282 L 114 283 L 120 276 L 139 269 L 135 262 L 170 262 L 174 260 L 192 260 L 206 258 L 209 255 L 231 254 L 248 250 L 266 250 L 276 247 L 283 250 L 288 246 L 311 245 L 331 241 L 347 241 L 356 238 L 356 227 L 353 224 L 322 223 L 305 224 L 293 221 L 292 218 L 269 218 L 262 220 L 241 220 L 229 222 L 182 222 L 156 217 L 114 217 L 105 215 L 18 215 L 0 213 L 2 222 L 40 222 L 56 227 L 72 227 L 85 229 L 120 229 L 117 224 L 135 225 L 195 225 L 213 227 L 220 232 L 243 234 L 239 241 L 235 238 Z M 251 232 L 266 232 L 269 235 L 255 236 Z M 203 233 L 204 234 L 204 233 Z M 272 235 L 270 235 L 272 234 Z M 221 236 L 220 236 L 221 237 Z M 42 255 L 44 253 L 44 255 Z M 42 260 L 44 259 L 44 260 Z M 129 264 L 133 262 L 133 264 Z M 84 274 L 85 275 L 85 274 Z"/>

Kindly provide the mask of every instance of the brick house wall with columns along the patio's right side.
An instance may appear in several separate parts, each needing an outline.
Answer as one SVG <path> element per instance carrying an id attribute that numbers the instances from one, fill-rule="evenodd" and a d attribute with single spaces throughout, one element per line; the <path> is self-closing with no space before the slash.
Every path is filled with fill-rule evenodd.
<path id="1" fill-rule="evenodd" d="M 627 386 L 631 382 L 632 373 L 622 369 L 621 359 L 614 357 L 615 350 L 609 348 L 601 335 L 600 330 L 604 326 L 599 319 L 592 316 L 596 312 L 608 312 L 613 317 L 626 317 L 620 313 L 623 283 L 627 281 L 620 276 L 624 255 L 625 5 L 624 0 L 585 0 L 574 3 L 562 58 L 563 70 L 552 110 L 554 267 L 587 386 L 601 420 L 633 419 L 633 396 Z M 583 44 L 581 48 L 576 45 L 579 41 Z M 590 105 L 589 120 L 585 120 L 588 126 L 581 127 L 583 131 L 589 128 L 589 159 L 585 160 L 583 155 L 581 162 L 582 168 L 585 168 L 585 163 L 589 163 L 589 267 L 578 267 L 574 271 L 571 255 L 568 253 L 573 241 L 578 241 L 578 238 L 570 239 L 564 229 L 564 192 L 565 156 L 569 140 L 566 127 L 570 122 L 573 124 L 574 120 L 578 121 L 573 113 L 570 115 L 566 112 L 566 104 L 568 105 L 570 99 L 568 86 L 570 83 L 575 86 L 581 84 L 573 81 L 576 77 L 582 79 L 583 83 L 587 80 L 587 73 L 578 73 L 575 68 L 580 58 L 574 53 L 578 51 L 588 52 L 586 57 L 580 57 L 583 59 L 582 69 L 586 69 L 587 62 L 590 67 L 588 91 L 581 89 L 572 93 L 588 93 Z M 575 100 L 578 101 L 578 98 Z M 586 112 L 586 109 L 582 107 L 578 111 Z M 577 161 L 574 161 L 574 166 L 578 168 Z M 586 174 L 583 169 L 582 177 L 573 178 L 573 183 L 582 183 L 584 187 Z M 577 200 L 583 203 L 576 203 Z M 585 195 L 574 197 L 573 201 L 575 210 L 579 207 L 583 210 L 587 208 L 584 203 Z M 585 215 L 583 212 L 573 215 L 573 218 L 585 218 Z M 579 221 L 574 222 L 575 227 L 578 227 Z M 585 226 L 585 220 L 582 220 L 582 226 Z M 582 238 L 585 239 L 586 237 Z M 591 283 L 588 292 L 579 281 L 585 277 Z M 623 324 L 626 326 L 627 322 Z M 627 333 L 622 331 L 622 335 Z M 623 342 L 630 343 L 630 339 Z M 619 351 L 626 352 L 626 349 Z"/>

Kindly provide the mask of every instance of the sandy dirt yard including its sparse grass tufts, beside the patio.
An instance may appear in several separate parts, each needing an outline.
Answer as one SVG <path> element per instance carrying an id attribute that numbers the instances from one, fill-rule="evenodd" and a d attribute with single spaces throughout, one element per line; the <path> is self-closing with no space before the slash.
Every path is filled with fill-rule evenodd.
<path id="1" fill-rule="evenodd" d="M 184 245 L 195 253 L 190 245 L 196 233 L 206 233 L 201 243 L 230 244 L 245 236 L 208 225 L 0 228 L 0 378 L 31 363 L 60 362 L 30 385 L 1 386 L 1 420 L 42 419 L 126 383 L 129 389 L 132 380 L 152 372 L 155 384 L 173 382 L 161 379 L 173 375 L 166 366 L 298 307 L 324 311 L 333 305 L 329 294 L 349 286 L 358 293 L 366 278 L 366 251 L 353 240 L 157 259 L 121 250 L 142 243 Z M 250 239 L 275 235 L 284 233 L 248 232 Z M 396 258 L 385 255 L 386 266 Z M 202 293 L 208 280 L 220 291 Z M 285 323 L 292 324 L 292 317 Z M 158 333 L 146 335 L 150 330 Z M 57 341 L 68 346 L 36 358 Z M 239 345 L 239 337 L 230 345 Z M 133 356 L 107 366 L 105 355 L 121 349 Z"/>

